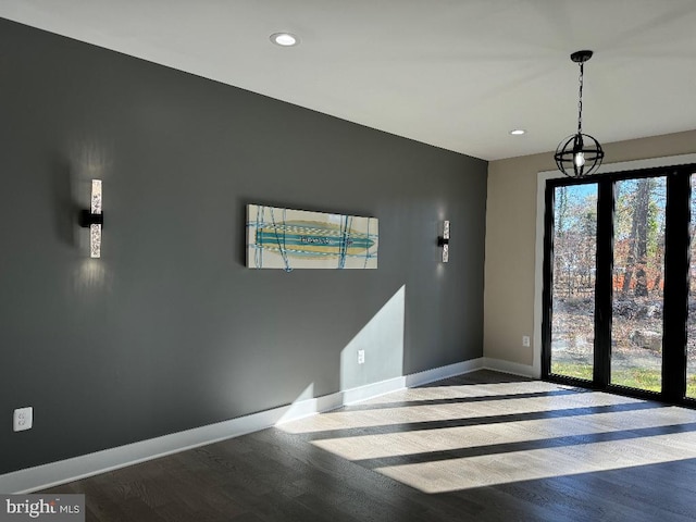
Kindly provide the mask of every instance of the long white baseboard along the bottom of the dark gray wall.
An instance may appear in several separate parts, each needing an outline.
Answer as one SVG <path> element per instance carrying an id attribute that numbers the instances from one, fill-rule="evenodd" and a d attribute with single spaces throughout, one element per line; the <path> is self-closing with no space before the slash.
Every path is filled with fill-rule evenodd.
<path id="1" fill-rule="evenodd" d="M 346 389 L 293 405 L 252 413 L 237 419 L 195 427 L 162 437 L 104 449 L 72 459 L 50 462 L 0 475 L 0 493 L 30 493 L 67 482 L 86 478 L 166 455 L 204 446 L 227 438 L 264 430 L 275 424 L 340 408 L 344 405 L 366 400 L 384 394 L 414 387 L 455 375 L 487 368 L 487 359 L 473 359 L 424 372 L 381 381 L 378 383 Z M 500 370 L 506 371 L 506 370 Z M 514 372 L 509 372 L 514 373 Z"/>

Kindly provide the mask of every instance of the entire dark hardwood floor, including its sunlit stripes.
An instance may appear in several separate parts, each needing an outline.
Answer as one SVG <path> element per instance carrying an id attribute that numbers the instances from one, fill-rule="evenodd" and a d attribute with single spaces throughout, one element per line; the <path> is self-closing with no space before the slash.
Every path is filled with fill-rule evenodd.
<path id="1" fill-rule="evenodd" d="M 45 493 L 101 522 L 696 520 L 696 410 L 481 371 Z"/>

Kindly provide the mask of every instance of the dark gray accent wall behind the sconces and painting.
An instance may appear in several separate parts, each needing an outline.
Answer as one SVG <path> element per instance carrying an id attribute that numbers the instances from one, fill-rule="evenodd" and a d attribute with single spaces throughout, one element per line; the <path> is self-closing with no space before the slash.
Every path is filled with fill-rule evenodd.
<path id="1" fill-rule="evenodd" d="M 482 357 L 485 161 L 0 20 L 0 474 Z M 378 270 L 245 268 L 247 203 Z"/>

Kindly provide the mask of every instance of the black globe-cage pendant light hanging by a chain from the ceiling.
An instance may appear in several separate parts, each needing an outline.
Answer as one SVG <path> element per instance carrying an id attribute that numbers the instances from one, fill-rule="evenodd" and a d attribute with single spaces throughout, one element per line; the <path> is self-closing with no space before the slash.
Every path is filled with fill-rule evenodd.
<path id="1" fill-rule="evenodd" d="M 592 51 L 576 51 L 570 59 L 580 64 L 580 96 L 577 102 L 577 133 L 563 138 L 558 144 L 556 165 L 558 170 L 570 177 L 583 177 L 594 174 L 601 165 L 605 151 L 601 145 L 588 134 L 583 134 L 583 74 L 584 64 L 592 58 Z"/>

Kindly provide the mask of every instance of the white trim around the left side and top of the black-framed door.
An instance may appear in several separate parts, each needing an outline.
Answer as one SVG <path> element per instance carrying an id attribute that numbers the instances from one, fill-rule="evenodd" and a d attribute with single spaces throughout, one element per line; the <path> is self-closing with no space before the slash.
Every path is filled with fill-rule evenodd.
<path id="1" fill-rule="evenodd" d="M 642 169 L 654 169 L 659 166 L 676 166 L 696 163 L 696 154 L 666 156 L 662 158 L 650 158 L 647 160 L 622 161 L 618 163 L 602 164 L 597 171 L 598 174 L 609 174 L 614 172 L 638 171 Z M 542 375 L 542 294 L 544 291 L 544 195 L 546 182 L 563 177 L 560 171 L 544 171 L 537 174 L 536 185 L 536 241 L 534 248 L 534 352 L 533 368 L 534 376 Z"/>

